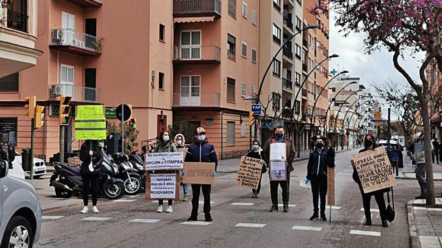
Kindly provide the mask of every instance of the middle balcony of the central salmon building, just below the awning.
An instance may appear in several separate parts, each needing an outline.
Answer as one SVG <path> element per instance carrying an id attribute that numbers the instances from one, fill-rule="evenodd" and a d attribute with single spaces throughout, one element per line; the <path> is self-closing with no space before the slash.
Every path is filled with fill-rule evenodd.
<path id="1" fill-rule="evenodd" d="M 175 64 L 219 64 L 221 49 L 217 46 L 175 46 L 173 49 Z"/>

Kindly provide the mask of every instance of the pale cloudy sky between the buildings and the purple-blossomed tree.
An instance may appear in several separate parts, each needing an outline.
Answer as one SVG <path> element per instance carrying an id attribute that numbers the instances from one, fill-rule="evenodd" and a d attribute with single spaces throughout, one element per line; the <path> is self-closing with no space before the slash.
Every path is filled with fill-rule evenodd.
<path id="1" fill-rule="evenodd" d="M 348 37 L 342 37 L 338 33 L 340 27 L 335 27 L 335 14 L 330 15 L 330 39 L 329 54 L 338 54 L 340 57 L 330 61 L 329 70 L 337 71 L 347 70 L 351 77 L 360 77 L 361 83 L 367 88 L 373 84 L 381 85 L 388 80 L 394 80 L 403 85 L 408 85 L 403 76 L 393 66 L 393 54 L 385 48 L 374 52 L 371 55 L 364 53 L 363 38 L 365 34 L 350 34 Z M 399 63 L 416 81 L 419 80 L 419 61 L 424 58 L 424 53 L 405 56 Z M 372 93 L 375 93 L 372 88 Z M 384 118 L 387 117 L 387 105 L 382 106 Z M 395 118 L 392 118 L 395 119 Z"/>

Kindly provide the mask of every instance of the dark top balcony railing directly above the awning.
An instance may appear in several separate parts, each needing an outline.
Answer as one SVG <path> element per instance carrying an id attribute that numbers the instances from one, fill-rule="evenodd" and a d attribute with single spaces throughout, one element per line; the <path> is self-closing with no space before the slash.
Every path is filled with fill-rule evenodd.
<path id="1" fill-rule="evenodd" d="M 220 0 L 174 0 L 174 17 L 221 16 Z"/>

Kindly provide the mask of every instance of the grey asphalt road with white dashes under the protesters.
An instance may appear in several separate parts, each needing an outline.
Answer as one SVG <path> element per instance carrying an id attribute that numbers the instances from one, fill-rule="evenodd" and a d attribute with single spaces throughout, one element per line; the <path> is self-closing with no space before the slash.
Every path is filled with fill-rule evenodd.
<path id="1" fill-rule="evenodd" d="M 381 227 L 376 211 L 373 225 L 364 226 L 362 198 L 352 180 L 349 162 L 356 152 L 337 154 L 336 206 L 340 209 L 332 210 L 331 223 L 308 219 L 312 214 L 311 192 L 299 186 L 306 172 L 307 161 L 302 161 L 294 164 L 291 175 L 290 204 L 296 206 L 289 213 L 268 211 L 271 201 L 267 176 L 263 177 L 261 198 L 255 199 L 250 198 L 251 190 L 234 184 L 235 173 L 219 173 L 211 194 L 214 221 L 208 225 L 181 224 L 189 217 L 190 202 L 176 201 L 173 213 L 156 213 L 157 203 L 144 195 L 125 196 L 134 201 L 99 201 L 99 214 L 80 214 L 78 206 L 44 212 L 44 216 L 63 217 L 44 220 L 42 238 L 35 247 L 409 247 L 406 202 L 419 194 L 417 181 L 398 181 L 394 191 L 396 219 L 389 227 Z M 436 186 L 440 189 L 441 184 Z M 377 209 L 374 198 L 372 208 Z M 82 220 L 85 217 L 109 219 Z M 202 213 L 199 218 L 203 219 Z M 149 219 L 144 221 L 151 223 L 130 222 L 134 219 Z M 239 223 L 261 225 L 236 226 Z M 294 226 L 298 229 L 292 229 Z M 359 231 L 363 234 L 352 233 Z"/>

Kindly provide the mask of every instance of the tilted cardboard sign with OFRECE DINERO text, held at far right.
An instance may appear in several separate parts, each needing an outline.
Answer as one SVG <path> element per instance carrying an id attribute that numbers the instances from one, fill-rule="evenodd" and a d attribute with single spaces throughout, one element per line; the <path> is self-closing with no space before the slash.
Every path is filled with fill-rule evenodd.
<path id="1" fill-rule="evenodd" d="M 396 178 L 385 147 L 353 155 L 351 162 L 358 172 L 364 193 L 396 185 Z"/>

